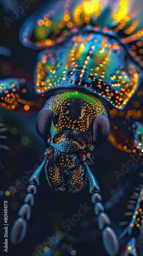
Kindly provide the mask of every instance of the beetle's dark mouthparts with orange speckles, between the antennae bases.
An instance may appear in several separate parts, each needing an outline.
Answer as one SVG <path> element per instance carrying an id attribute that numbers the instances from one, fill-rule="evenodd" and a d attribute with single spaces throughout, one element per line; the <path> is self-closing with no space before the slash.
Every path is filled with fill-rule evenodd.
<path id="1" fill-rule="evenodd" d="M 56 160 L 58 162 L 52 158 L 44 167 L 51 188 L 56 191 L 73 191 L 73 193 L 80 191 L 85 184 L 87 172 L 78 155 L 61 154 Z"/>

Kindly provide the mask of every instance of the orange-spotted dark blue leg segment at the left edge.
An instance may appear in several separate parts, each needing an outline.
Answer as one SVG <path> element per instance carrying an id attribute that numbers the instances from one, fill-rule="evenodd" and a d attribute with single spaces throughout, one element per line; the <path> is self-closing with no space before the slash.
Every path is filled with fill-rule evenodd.
<path id="1" fill-rule="evenodd" d="M 44 104 L 44 95 L 34 91 L 25 79 L 8 78 L 0 81 L 0 106 L 20 113 L 37 113 Z"/>

